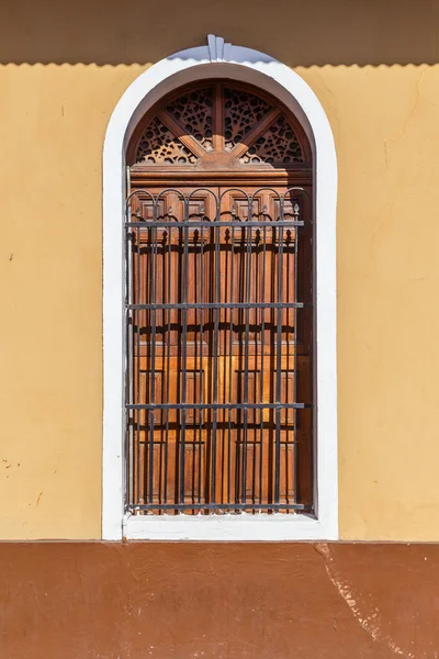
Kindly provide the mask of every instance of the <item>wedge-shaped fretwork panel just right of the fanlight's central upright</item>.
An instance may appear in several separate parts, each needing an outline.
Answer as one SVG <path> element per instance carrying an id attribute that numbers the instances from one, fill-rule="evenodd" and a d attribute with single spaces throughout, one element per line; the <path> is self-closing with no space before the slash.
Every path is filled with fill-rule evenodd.
<path id="1" fill-rule="evenodd" d="M 227 150 L 244 142 L 246 135 L 269 112 L 270 105 L 261 98 L 227 88 L 224 90 L 224 141 Z"/>

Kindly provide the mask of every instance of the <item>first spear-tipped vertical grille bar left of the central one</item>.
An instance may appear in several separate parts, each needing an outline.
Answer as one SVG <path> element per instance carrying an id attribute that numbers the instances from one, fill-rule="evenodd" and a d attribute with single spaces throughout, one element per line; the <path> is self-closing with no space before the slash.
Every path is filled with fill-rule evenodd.
<path id="1" fill-rule="evenodd" d="M 182 263 L 182 302 L 188 302 L 188 280 L 189 280 L 189 201 L 183 199 L 183 263 Z M 181 377 L 181 442 L 180 442 L 180 503 L 184 503 L 184 481 L 185 481 L 185 415 L 187 409 L 187 380 L 188 380 L 188 309 L 181 310 L 182 315 L 182 377 Z"/>

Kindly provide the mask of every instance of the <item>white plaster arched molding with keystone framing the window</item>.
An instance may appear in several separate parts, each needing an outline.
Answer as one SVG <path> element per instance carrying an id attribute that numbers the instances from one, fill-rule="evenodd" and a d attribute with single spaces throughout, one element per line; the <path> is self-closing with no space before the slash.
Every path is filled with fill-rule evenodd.
<path id="1" fill-rule="evenodd" d="M 124 517 L 123 241 L 126 144 L 143 114 L 165 93 L 192 80 L 225 77 L 279 98 L 301 121 L 315 158 L 317 518 L 301 515 Z M 299 540 L 338 537 L 336 359 L 337 159 L 328 119 L 313 90 L 285 65 L 209 36 L 209 44 L 162 59 L 125 91 L 110 119 L 103 152 L 103 461 L 102 537 L 205 540 Z"/>

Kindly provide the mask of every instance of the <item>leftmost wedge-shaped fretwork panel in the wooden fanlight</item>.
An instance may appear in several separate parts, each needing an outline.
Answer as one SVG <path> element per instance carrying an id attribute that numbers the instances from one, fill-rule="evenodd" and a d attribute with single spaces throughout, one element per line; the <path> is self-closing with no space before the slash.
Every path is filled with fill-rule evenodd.
<path id="1" fill-rule="evenodd" d="M 136 154 L 136 163 L 149 165 L 192 165 L 196 159 L 196 156 L 157 118 L 144 131 Z"/>

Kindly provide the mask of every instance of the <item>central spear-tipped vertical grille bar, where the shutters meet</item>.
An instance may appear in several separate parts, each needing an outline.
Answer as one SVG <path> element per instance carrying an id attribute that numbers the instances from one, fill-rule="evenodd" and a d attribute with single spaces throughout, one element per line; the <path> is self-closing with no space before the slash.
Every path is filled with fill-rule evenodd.
<path id="1" fill-rule="evenodd" d="M 221 206 L 219 200 L 216 203 L 216 217 L 214 227 L 215 241 L 215 260 L 214 260 L 214 300 L 219 303 L 219 222 Z M 213 391 L 212 398 L 216 405 L 218 402 L 218 333 L 219 333 L 219 310 L 214 309 L 214 331 L 213 331 Z M 217 429 L 217 407 L 213 410 L 212 423 L 212 482 L 211 482 L 211 502 L 216 502 L 216 429 Z"/>

